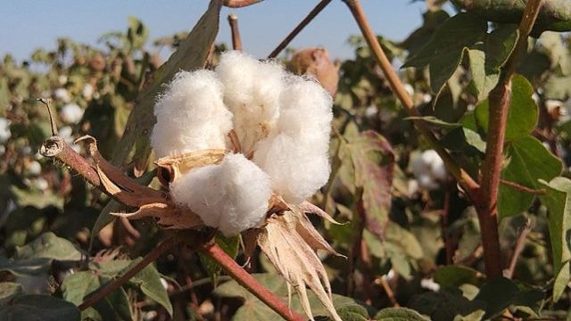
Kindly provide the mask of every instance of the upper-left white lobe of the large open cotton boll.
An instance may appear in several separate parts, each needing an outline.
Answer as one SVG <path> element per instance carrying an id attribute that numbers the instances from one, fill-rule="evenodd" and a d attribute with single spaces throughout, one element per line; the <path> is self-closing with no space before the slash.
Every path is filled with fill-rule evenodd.
<path id="1" fill-rule="evenodd" d="M 232 113 L 214 72 L 181 71 L 154 106 L 151 144 L 158 157 L 226 148 Z"/>

